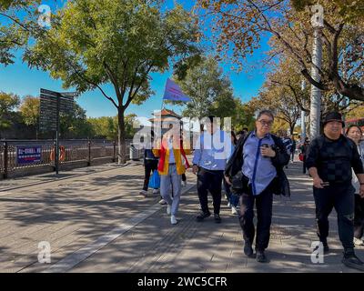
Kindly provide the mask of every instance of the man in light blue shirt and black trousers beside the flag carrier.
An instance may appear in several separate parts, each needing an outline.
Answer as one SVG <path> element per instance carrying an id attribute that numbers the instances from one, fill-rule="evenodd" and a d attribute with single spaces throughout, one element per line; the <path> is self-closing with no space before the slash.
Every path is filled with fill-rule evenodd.
<path id="1" fill-rule="evenodd" d="M 211 215 L 208 210 L 207 191 L 211 193 L 214 202 L 215 222 L 221 222 L 221 183 L 227 158 L 231 155 L 231 146 L 231 137 L 218 129 L 214 116 L 209 116 L 207 131 L 199 136 L 192 161 L 192 171 L 197 174 L 197 192 L 202 211 L 196 217 L 198 222 Z"/>

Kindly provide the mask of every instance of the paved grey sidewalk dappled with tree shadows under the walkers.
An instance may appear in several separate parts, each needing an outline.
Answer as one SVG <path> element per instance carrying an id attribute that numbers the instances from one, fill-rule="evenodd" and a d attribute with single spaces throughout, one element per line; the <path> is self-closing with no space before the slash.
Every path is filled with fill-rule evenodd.
<path id="1" fill-rule="evenodd" d="M 196 176 L 171 226 L 158 195 L 138 195 L 139 163 L 95 166 L 0 182 L 0 272 L 355 272 L 342 266 L 336 214 L 330 216 L 324 264 L 311 263 L 315 234 L 311 182 L 301 163 L 289 165 L 291 199 L 275 196 L 270 262 L 242 252 L 238 216 L 223 198 L 222 223 L 198 212 Z M 51 264 L 38 263 L 38 243 L 48 241 Z M 357 249 L 364 258 L 364 250 Z"/>

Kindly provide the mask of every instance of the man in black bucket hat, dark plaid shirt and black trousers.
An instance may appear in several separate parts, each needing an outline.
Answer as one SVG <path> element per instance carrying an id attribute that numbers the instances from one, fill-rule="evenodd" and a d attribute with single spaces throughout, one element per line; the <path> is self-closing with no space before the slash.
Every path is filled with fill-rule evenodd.
<path id="1" fill-rule="evenodd" d="M 364 196 L 364 169 L 354 143 L 341 135 L 344 122 L 337 112 L 324 120 L 324 134 L 308 147 L 306 164 L 313 178 L 313 196 L 316 203 L 316 221 L 319 241 L 324 253 L 329 252 L 328 216 L 335 207 L 338 213 L 339 238 L 344 247 L 342 263 L 364 271 L 364 263 L 354 252 L 354 192 L 351 168 L 360 182 L 359 195 Z"/>

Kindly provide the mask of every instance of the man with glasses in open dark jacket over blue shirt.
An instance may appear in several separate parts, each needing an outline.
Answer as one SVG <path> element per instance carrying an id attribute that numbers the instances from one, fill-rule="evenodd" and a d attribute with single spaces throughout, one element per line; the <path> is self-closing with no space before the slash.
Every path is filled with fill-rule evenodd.
<path id="1" fill-rule="evenodd" d="M 288 179 L 283 167 L 289 155 L 278 136 L 270 134 L 274 115 L 268 110 L 258 114 L 256 130 L 239 140 L 225 169 L 227 183 L 240 194 L 239 221 L 243 231 L 244 253 L 253 256 L 255 236 L 254 203 L 257 206 L 257 261 L 268 262 L 268 247 L 272 219 L 273 193 L 289 196 Z"/>

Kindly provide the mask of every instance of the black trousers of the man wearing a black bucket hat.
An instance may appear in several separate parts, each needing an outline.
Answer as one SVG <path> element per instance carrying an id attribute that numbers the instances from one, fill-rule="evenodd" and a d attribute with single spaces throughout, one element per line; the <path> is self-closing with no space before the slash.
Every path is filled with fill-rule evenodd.
<path id="1" fill-rule="evenodd" d="M 335 207 L 338 213 L 339 239 L 344 248 L 354 247 L 354 192 L 351 183 L 330 185 L 322 189 L 313 187 L 316 204 L 316 223 L 319 240 L 329 236 L 329 214 Z"/>

